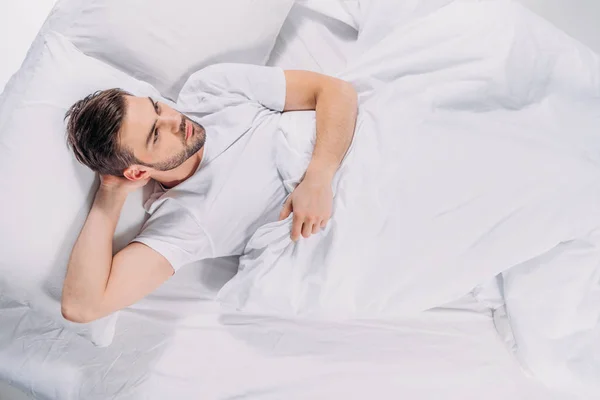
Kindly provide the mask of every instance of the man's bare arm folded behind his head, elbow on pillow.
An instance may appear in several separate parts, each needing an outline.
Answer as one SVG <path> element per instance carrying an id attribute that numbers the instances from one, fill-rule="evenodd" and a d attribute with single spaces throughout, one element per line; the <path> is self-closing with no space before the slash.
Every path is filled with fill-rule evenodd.
<path id="1" fill-rule="evenodd" d="M 142 299 L 173 275 L 167 259 L 141 243 L 131 243 L 112 256 L 127 195 L 146 182 L 103 178 L 67 267 L 61 302 L 66 319 L 90 322 L 109 315 Z"/>

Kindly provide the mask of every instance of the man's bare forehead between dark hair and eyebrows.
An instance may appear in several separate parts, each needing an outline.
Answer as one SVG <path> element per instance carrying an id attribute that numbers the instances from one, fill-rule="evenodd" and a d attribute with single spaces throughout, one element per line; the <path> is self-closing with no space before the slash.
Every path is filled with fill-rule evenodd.
<path id="1" fill-rule="evenodd" d="M 125 96 L 125 119 L 121 126 L 121 144 L 133 149 L 146 147 L 146 138 L 156 121 L 154 106 L 147 97 Z"/>

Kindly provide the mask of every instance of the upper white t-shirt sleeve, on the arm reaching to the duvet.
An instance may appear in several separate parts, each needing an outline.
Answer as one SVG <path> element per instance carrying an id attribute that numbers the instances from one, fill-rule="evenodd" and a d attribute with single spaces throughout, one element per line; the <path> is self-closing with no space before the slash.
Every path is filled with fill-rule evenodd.
<path id="1" fill-rule="evenodd" d="M 178 104 L 193 104 L 202 94 L 238 101 L 257 102 L 283 111 L 286 81 L 280 67 L 253 64 L 212 64 L 192 74 L 184 85 Z M 218 107 L 218 104 L 215 104 Z"/>

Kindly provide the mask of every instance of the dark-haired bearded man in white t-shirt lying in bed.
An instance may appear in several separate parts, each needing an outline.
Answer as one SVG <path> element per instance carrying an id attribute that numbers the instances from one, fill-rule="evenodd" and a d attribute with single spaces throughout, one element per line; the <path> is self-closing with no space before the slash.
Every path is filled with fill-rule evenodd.
<path id="1" fill-rule="evenodd" d="M 104 317 L 182 265 L 239 255 L 259 226 L 292 212 L 294 241 L 330 218 L 331 182 L 357 115 L 349 83 L 309 71 L 215 64 L 190 77 L 176 108 L 112 89 L 67 113 L 68 143 L 101 184 L 69 260 L 66 319 Z M 273 143 L 281 112 L 291 110 L 316 110 L 316 142 L 303 180 L 286 200 Z M 151 217 L 113 257 L 125 199 L 151 179 Z"/>

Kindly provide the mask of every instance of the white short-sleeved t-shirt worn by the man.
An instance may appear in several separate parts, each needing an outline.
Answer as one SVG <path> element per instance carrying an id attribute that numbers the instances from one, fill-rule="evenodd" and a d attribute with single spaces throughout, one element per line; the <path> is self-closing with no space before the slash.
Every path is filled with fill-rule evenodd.
<path id="1" fill-rule="evenodd" d="M 132 242 L 162 254 L 175 271 L 205 258 L 241 255 L 261 225 L 276 221 L 287 196 L 275 165 L 286 95 L 283 70 L 214 64 L 194 73 L 177 108 L 206 131 L 194 175 L 155 191 L 151 217 Z"/>

